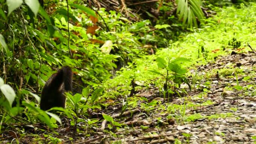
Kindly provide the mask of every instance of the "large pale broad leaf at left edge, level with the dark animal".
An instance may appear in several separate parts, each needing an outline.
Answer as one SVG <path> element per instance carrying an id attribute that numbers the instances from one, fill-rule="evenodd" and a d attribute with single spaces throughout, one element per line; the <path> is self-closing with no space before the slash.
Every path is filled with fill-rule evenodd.
<path id="1" fill-rule="evenodd" d="M 4 96 L 6 97 L 6 99 L 9 101 L 9 104 L 11 106 L 12 102 L 14 101 L 15 96 L 16 96 L 14 90 L 12 89 L 12 87 L 10 87 L 9 85 L 6 85 L 6 84 L 1 85 L 0 89 L 1 89 L 2 93 L 4 94 Z"/>

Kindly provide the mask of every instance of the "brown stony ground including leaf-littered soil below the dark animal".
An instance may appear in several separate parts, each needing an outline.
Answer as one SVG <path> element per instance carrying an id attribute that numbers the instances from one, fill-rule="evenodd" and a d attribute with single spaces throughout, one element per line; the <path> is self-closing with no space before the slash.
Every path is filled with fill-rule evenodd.
<path id="1" fill-rule="evenodd" d="M 106 120 L 91 126 L 80 122 L 80 131 L 74 135 L 64 118 L 65 124 L 51 132 L 61 142 L 47 138 L 45 132 L 50 130 L 42 124 L 34 125 L 26 131 L 27 135 L 16 129 L 3 132 L 0 138 L 6 143 L 17 138 L 28 144 L 44 139 L 56 144 L 255 144 L 255 63 L 255 53 L 232 52 L 191 70 L 192 90 L 182 85 L 186 90 L 181 90 L 181 96 L 172 101 L 167 102 L 166 98 L 164 102 L 162 93 L 152 86 L 129 96 L 124 112 L 120 103 L 124 98 L 107 101 L 111 104 L 97 113 L 88 111 L 92 120 L 103 120 L 102 113 L 106 113 L 122 127 Z"/>

